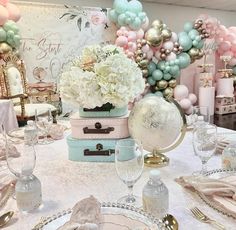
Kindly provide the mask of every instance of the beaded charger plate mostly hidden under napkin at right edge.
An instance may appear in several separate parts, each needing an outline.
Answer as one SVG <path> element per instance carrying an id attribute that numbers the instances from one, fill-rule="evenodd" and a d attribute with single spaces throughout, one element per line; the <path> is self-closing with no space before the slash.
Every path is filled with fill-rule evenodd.
<path id="1" fill-rule="evenodd" d="M 212 178 L 212 179 L 222 179 L 223 178 L 229 178 L 231 176 L 236 176 L 236 169 L 232 169 L 232 170 L 225 170 L 225 169 L 215 169 L 215 170 L 211 170 L 208 171 L 204 174 L 205 176 Z M 217 202 L 213 199 L 211 199 L 208 196 L 205 196 L 203 194 L 198 194 L 201 199 L 207 204 L 209 205 L 211 208 L 217 210 L 218 212 L 228 216 L 228 217 L 232 217 L 233 219 L 236 219 L 236 201 L 233 201 L 232 203 L 230 202 L 229 205 L 229 209 L 226 209 L 224 207 L 224 205 L 226 205 L 227 203 L 221 203 L 221 202 Z M 229 200 L 229 199 L 227 199 Z M 227 204 L 228 205 L 228 204 Z"/>

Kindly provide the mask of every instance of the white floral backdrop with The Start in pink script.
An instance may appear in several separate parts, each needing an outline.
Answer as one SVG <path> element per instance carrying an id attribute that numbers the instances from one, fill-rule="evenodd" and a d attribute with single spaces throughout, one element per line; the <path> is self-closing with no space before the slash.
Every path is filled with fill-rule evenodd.
<path id="1" fill-rule="evenodd" d="M 29 82 L 58 83 L 61 70 L 85 45 L 114 43 L 116 28 L 107 21 L 107 9 L 17 2 L 20 53 Z"/>

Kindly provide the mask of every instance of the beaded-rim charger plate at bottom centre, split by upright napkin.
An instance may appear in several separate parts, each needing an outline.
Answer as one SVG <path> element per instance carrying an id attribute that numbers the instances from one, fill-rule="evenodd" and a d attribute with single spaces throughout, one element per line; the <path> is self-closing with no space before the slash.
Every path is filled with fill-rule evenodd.
<path id="1" fill-rule="evenodd" d="M 102 203 L 103 230 L 166 230 L 161 220 L 133 206 Z M 72 209 L 42 218 L 33 230 L 56 230 L 69 221 Z"/>

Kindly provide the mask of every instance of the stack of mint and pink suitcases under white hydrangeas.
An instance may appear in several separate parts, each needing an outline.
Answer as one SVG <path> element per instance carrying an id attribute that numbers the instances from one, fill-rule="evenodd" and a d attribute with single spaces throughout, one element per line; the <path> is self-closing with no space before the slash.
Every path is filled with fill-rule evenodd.
<path id="1" fill-rule="evenodd" d="M 70 117 L 69 160 L 114 161 L 117 140 L 128 138 L 128 109 L 80 109 Z"/>

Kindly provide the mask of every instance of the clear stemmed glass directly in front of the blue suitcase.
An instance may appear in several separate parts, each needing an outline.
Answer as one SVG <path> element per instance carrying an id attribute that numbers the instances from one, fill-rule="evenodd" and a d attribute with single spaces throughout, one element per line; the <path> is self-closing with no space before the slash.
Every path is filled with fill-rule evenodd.
<path id="1" fill-rule="evenodd" d="M 117 141 L 115 147 L 116 172 L 129 189 L 129 194 L 120 198 L 119 203 L 141 205 L 141 199 L 133 195 L 133 186 L 141 177 L 143 166 L 143 148 L 140 141 L 135 139 Z"/>

